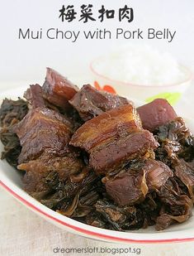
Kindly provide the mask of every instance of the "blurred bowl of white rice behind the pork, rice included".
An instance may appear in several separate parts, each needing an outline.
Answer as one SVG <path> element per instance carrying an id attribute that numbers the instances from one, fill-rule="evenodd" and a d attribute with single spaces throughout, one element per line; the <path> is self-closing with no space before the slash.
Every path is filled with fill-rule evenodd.
<path id="1" fill-rule="evenodd" d="M 90 68 L 97 89 L 144 102 L 163 98 L 176 104 L 193 78 L 168 52 L 144 45 L 119 47 L 93 60 Z"/>

